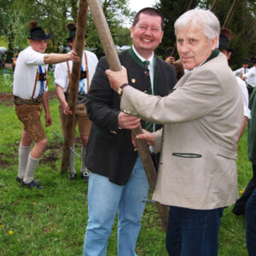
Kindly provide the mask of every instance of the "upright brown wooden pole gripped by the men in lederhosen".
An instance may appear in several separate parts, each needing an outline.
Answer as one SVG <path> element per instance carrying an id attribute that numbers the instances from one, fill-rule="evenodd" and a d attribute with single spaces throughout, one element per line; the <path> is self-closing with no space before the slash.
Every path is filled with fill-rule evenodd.
<path id="1" fill-rule="evenodd" d="M 77 29 L 76 29 L 76 38 L 75 38 L 75 52 L 79 55 L 80 61 L 73 62 L 72 67 L 72 77 L 71 77 L 71 87 L 70 93 L 68 96 L 68 107 L 72 111 L 67 118 L 67 122 L 65 124 L 64 129 L 64 143 L 62 150 L 62 160 L 61 160 L 61 174 L 67 172 L 68 163 L 69 163 L 69 155 L 70 155 L 70 147 L 71 138 L 73 133 L 74 126 L 74 111 L 77 105 L 77 97 L 79 91 L 79 76 L 80 76 L 80 67 L 82 61 L 82 55 L 84 50 L 84 38 L 85 38 L 85 29 L 86 29 L 86 21 L 87 21 L 87 9 L 88 4 L 86 0 L 79 0 L 79 11 L 77 16 Z"/>

